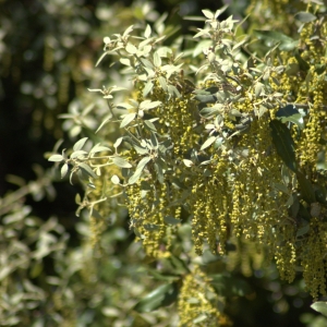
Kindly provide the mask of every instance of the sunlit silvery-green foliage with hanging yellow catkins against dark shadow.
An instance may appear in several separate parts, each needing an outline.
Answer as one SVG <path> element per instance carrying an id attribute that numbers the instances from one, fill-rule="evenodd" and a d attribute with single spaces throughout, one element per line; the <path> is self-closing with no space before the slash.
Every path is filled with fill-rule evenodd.
<path id="1" fill-rule="evenodd" d="M 149 4 L 99 5 L 112 17 L 104 53 L 71 71 L 89 93 L 76 83 L 60 116 L 73 145 L 57 143 L 56 169 L 2 201 L 4 324 L 258 326 L 259 305 L 234 298 L 259 299 L 258 278 L 282 293 L 276 268 L 294 307 L 306 291 L 325 313 L 327 24 L 326 7 L 306 2 L 253 0 L 241 22 L 204 9 L 184 17 L 190 35 Z M 45 45 L 52 76 L 61 57 Z M 78 246 L 55 217 L 14 205 L 60 178 L 83 190 Z M 284 296 L 275 312 L 289 310 Z M 264 325 L 288 326 L 279 319 Z"/>

